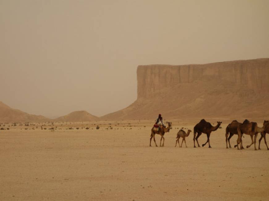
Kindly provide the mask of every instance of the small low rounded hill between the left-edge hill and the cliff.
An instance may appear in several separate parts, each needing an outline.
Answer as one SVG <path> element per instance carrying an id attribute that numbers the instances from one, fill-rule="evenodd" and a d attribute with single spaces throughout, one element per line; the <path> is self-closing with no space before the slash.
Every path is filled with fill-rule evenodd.
<path id="1" fill-rule="evenodd" d="M 53 119 L 53 121 L 60 121 L 60 122 L 90 122 L 98 120 L 99 117 L 91 115 L 86 111 L 75 111 L 69 113 L 68 115 Z"/>

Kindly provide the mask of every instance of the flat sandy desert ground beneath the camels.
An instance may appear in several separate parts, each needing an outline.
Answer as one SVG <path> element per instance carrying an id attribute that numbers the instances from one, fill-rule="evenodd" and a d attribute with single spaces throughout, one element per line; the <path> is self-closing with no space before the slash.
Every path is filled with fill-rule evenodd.
<path id="1" fill-rule="evenodd" d="M 259 151 L 226 149 L 227 123 L 212 133 L 212 149 L 193 148 L 193 132 L 188 148 L 174 147 L 177 128 L 195 123 L 174 122 L 165 147 L 149 147 L 152 123 L 110 123 L 1 130 L 0 200 L 269 200 L 269 151 L 264 142 Z"/>

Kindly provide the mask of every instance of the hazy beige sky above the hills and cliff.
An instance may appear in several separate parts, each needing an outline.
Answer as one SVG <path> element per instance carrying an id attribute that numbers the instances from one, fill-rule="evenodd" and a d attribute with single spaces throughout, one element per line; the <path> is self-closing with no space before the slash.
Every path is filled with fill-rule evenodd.
<path id="1" fill-rule="evenodd" d="M 0 101 L 31 114 L 127 107 L 138 65 L 266 57 L 268 0 L 0 0 Z"/>

